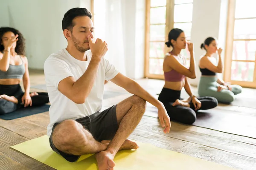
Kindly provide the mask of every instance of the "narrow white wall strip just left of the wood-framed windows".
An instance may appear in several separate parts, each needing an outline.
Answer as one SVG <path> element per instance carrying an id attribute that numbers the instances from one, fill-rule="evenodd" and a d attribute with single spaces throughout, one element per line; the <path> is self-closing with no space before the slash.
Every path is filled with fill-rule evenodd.
<path id="1" fill-rule="evenodd" d="M 122 0 L 126 75 L 144 77 L 145 0 Z"/>

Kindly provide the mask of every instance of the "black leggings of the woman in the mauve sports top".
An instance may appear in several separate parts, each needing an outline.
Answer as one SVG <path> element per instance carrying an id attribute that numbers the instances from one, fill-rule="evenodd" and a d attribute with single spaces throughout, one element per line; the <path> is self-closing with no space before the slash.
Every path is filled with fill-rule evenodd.
<path id="1" fill-rule="evenodd" d="M 180 99 L 180 91 L 169 88 L 163 88 L 158 97 L 158 100 L 165 106 L 171 120 L 189 125 L 193 124 L 196 120 L 196 111 L 193 103 L 189 102 L 190 108 L 180 105 L 172 106 L 176 99 Z M 199 110 L 215 108 L 218 105 L 218 101 L 214 97 L 198 97 L 197 99 L 201 102 Z"/>

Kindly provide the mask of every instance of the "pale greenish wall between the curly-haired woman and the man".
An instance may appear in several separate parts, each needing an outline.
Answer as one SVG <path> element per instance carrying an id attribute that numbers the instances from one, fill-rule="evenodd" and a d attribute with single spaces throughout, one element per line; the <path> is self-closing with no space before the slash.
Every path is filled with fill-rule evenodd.
<path id="1" fill-rule="evenodd" d="M 17 28 L 26 38 L 29 68 L 44 68 L 49 54 L 66 48 L 61 21 L 74 7 L 90 11 L 90 0 L 1 0 L 0 26 Z"/>

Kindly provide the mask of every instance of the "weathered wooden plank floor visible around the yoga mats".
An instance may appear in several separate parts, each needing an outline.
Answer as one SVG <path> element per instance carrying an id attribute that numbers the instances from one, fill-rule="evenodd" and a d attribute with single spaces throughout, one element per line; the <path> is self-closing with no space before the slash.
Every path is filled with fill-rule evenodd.
<path id="1" fill-rule="evenodd" d="M 30 71 L 30 79 L 31 85 L 45 83 L 42 71 Z M 163 87 L 163 81 L 160 80 L 142 79 L 138 82 L 153 95 L 159 93 Z M 125 92 L 111 82 L 105 85 L 105 89 Z M 125 93 L 105 99 L 103 109 L 128 96 L 131 94 Z M 231 105 L 219 105 L 218 108 L 246 110 L 246 108 Z M 256 109 L 249 110 L 256 113 Z M 9 121 L 0 119 L 0 170 L 52 170 L 53 168 L 10 148 L 12 145 L 45 135 L 48 123 L 49 112 Z M 129 138 L 236 169 L 256 170 L 256 139 L 175 122 L 172 122 L 170 133 L 165 134 L 158 119 L 148 116 L 143 116 Z"/>

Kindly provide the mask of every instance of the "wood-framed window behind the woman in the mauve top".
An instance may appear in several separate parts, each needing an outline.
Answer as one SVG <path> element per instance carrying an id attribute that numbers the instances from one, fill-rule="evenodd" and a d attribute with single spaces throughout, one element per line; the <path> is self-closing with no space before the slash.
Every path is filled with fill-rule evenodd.
<path id="1" fill-rule="evenodd" d="M 193 0 L 146 1 L 145 77 L 163 79 L 163 58 L 170 51 L 165 42 L 172 28 L 182 29 L 190 40 L 192 3 Z M 189 59 L 187 49 L 181 53 Z"/>

